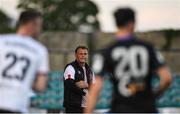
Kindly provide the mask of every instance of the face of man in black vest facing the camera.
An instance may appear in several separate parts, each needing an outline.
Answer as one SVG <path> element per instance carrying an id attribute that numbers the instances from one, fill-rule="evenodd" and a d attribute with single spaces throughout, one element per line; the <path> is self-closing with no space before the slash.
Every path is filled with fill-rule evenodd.
<path id="1" fill-rule="evenodd" d="M 78 49 L 76 53 L 76 60 L 79 63 L 85 63 L 88 59 L 88 50 L 87 49 Z"/>

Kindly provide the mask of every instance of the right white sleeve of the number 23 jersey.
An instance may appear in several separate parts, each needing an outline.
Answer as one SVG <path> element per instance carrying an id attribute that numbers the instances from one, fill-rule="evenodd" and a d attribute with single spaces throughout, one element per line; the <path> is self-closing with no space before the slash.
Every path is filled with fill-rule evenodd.
<path id="1" fill-rule="evenodd" d="M 49 72 L 49 57 L 47 49 L 43 49 L 40 53 L 38 73 L 48 73 Z"/>

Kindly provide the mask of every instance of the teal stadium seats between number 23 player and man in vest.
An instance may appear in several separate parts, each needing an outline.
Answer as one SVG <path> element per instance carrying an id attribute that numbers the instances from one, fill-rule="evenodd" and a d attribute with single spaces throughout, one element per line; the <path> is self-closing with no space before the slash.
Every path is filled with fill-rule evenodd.
<path id="1" fill-rule="evenodd" d="M 63 72 L 49 73 L 47 90 L 31 98 L 32 107 L 41 109 L 63 109 Z"/>

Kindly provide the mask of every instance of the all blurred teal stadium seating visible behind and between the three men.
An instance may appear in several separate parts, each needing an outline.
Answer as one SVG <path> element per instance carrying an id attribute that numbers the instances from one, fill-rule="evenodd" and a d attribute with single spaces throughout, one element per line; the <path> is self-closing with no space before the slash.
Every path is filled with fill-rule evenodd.
<path id="1" fill-rule="evenodd" d="M 158 85 L 154 79 L 153 85 Z M 31 98 L 32 107 L 40 109 L 63 109 L 63 72 L 49 73 L 48 88 L 44 94 L 36 94 Z M 157 100 L 158 107 L 180 107 L 180 76 L 173 76 L 169 89 Z M 100 93 L 96 109 L 108 109 L 111 105 L 112 84 L 106 79 Z"/>

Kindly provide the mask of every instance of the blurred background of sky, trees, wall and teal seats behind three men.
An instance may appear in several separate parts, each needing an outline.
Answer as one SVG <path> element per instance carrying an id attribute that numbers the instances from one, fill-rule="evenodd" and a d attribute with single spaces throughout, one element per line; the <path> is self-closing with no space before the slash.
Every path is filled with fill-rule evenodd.
<path id="1" fill-rule="evenodd" d="M 180 0 L 0 0 L 0 34 L 15 32 L 19 13 L 37 9 L 43 13 L 43 32 L 38 38 L 49 50 L 48 89 L 32 97 L 31 112 L 63 110 L 63 70 L 74 60 L 74 49 L 86 45 L 91 55 L 115 41 L 113 12 L 131 7 L 137 13 L 136 35 L 153 43 L 164 55 L 173 83 L 157 100 L 160 111 L 180 112 Z M 110 107 L 112 85 L 107 79 L 97 109 Z M 158 83 L 154 81 L 153 83 Z M 154 85 L 154 84 L 153 84 Z"/>

